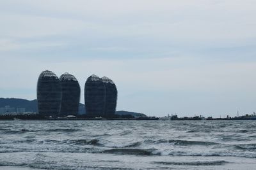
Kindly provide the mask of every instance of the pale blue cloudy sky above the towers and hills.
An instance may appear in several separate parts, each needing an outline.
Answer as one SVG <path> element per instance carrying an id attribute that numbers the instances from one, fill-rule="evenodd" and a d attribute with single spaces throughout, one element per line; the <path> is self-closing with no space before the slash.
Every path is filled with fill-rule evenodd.
<path id="1" fill-rule="evenodd" d="M 36 99 L 45 69 L 107 76 L 117 110 L 256 112 L 256 1 L 0 1 L 0 97 Z"/>

